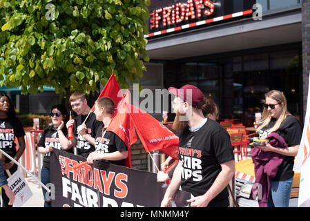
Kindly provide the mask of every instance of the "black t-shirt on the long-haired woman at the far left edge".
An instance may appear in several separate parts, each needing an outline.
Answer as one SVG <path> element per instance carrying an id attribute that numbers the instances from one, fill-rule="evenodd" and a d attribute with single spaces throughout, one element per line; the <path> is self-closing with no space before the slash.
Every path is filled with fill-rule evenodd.
<path id="1" fill-rule="evenodd" d="M 0 148 L 11 157 L 17 153 L 15 137 L 23 137 L 24 135 L 25 131 L 23 131 L 23 126 L 18 118 L 0 119 Z M 7 157 L 6 162 L 10 162 Z"/>

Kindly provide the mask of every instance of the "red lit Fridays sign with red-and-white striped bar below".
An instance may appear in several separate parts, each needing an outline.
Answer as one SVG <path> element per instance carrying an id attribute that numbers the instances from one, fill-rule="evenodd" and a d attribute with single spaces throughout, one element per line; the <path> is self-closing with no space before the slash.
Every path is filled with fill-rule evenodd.
<path id="1" fill-rule="evenodd" d="M 255 3 L 253 0 L 179 0 L 170 6 L 149 7 L 150 34 L 144 37 L 250 15 L 253 13 L 253 3 Z"/>

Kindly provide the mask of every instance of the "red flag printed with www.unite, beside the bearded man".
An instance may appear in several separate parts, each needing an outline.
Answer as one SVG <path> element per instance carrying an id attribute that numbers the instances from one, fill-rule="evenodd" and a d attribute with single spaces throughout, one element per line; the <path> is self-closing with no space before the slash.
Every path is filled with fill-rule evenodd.
<path id="1" fill-rule="evenodd" d="M 146 152 L 162 151 L 177 160 L 179 137 L 148 113 L 130 104 L 126 106 Z"/>

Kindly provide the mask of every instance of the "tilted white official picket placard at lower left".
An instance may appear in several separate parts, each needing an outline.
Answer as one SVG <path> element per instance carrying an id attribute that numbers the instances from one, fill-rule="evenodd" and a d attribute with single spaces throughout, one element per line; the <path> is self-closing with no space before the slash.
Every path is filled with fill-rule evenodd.
<path id="1" fill-rule="evenodd" d="M 21 171 L 17 170 L 8 178 L 8 185 L 15 194 L 14 207 L 23 206 L 23 204 L 32 197 L 32 192 L 26 180 L 23 178 Z"/>

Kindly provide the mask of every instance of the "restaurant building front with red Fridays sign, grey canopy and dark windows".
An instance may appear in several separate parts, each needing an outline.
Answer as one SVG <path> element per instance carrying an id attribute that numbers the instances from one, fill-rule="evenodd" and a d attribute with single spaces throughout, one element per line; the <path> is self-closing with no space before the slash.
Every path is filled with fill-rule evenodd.
<path id="1" fill-rule="evenodd" d="M 146 66 L 162 66 L 157 75 L 164 88 L 198 86 L 219 104 L 221 119 L 253 126 L 264 93 L 276 89 L 286 95 L 289 112 L 303 120 L 309 75 L 309 67 L 302 68 L 309 56 L 303 52 L 309 50 L 305 2 L 151 1 Z"/>

